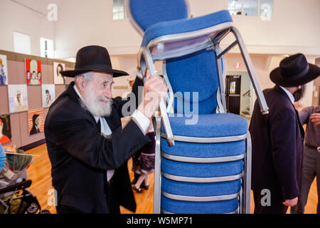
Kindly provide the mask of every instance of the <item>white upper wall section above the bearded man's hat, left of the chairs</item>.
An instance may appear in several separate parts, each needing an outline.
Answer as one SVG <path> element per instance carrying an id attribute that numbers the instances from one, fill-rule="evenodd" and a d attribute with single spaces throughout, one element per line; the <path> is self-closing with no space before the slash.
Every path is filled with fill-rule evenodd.
<path id="1" fill-rule="evenodd" d="M 68 0 L 60 5 L 55 56 L 74 57 L 82 46 L 105 46 L 112 55 L 137 54 L 142 37 L 129 19 L 112 21 L 111 0 Z"/>

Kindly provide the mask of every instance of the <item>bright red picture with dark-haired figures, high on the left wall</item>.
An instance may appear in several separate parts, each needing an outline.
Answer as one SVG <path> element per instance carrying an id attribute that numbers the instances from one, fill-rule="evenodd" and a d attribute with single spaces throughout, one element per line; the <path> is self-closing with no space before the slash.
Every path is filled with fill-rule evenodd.
<path id="1" fill-rule="evenodd" d="M 41 85 L 41 61 L 26 58 L 25 63 L 27 85 Z"/>

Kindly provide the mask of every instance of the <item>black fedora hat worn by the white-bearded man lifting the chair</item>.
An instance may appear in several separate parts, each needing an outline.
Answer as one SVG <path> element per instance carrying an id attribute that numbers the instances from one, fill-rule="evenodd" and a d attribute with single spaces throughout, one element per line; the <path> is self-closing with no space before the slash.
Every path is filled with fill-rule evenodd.
<path id="1" fill-rule="evenodd" d="M 85 46 L 81 48 L 75 60 L 75 70 L 60 71 L 60 73 L 66 77 L 75 77 L 89 71 L 113 73 L 114 78 L 129 75 L 127 72 L 112 69 L 109 53 L 106 48 L 101 46 Z"/>

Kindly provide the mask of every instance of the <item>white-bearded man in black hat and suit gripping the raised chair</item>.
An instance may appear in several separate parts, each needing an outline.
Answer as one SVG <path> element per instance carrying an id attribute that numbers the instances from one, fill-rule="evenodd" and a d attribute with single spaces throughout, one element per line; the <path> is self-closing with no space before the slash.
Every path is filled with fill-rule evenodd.
<path id="1" fill-rule="evenodd" d="M 127 160 L 149 142 L 150 118 L 167 90 L 163 79 L 147 73 L 144 96 L 155 97 L 149 103 L 143 97 L 122 129 L 127 101 L 112 98 L 112 84 L 114 77 L 128 74 L 112 69 L 106 48 L 81 48 L 75 70 L 61 74 L 75 81 L 50 106 L 45 123 L 57 212 L 120 213 L 119 205 L 134 212 Z"/>

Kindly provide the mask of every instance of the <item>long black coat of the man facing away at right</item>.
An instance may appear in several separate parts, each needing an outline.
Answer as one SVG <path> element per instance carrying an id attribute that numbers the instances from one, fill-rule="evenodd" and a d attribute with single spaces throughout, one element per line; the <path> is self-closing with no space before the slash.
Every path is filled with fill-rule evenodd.
<path id="1" fill-rule="evenodd" d="M 269 114 L 255 103 L 250 122 L 252 190 L 277 191 L 284 199 L 299 196 L 304 130 L 288 95 L 275 86 L 264 90 Z"/>

